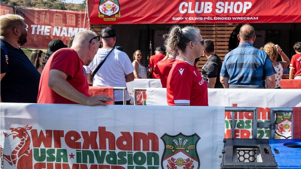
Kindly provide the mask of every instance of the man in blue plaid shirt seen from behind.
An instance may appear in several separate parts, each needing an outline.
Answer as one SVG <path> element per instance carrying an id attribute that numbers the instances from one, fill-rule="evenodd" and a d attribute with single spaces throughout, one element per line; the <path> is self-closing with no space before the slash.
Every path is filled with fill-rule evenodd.
<path id="1" fill-rule="evenodd" d="M 265 51 L 253 47 L 253 26 L 245 24 L 237 35 L 239 46 L 224 58 L 220 81 L 224 88 L 275 88 L 275 69 Z"/>

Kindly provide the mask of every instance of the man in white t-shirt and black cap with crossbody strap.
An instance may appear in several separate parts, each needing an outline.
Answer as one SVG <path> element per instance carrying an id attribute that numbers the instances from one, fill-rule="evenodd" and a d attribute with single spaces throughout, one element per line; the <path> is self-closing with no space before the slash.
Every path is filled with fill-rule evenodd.
<path id="1" fill-rule="evenodd" d="M 103 47 L 98 49 L 90 65 L 85 66 L 88 83 L 93 84 L 93 86 L 126 87 L 126 82 L 134 80 L 133 71 L 135 68 L 126 53 L 113 49 L 116 41 L 115 30 L 110 27 L 103 28 L 101 41 Z M 112 49 L 113 51 L 109 54 Z M 109 54 L 107 59 L 92 79 L 92 73 L 107 54 Z M 126 104 L 130 104 L 129 92 L 126 92 L 126 100 Z M 115 104 L 123 104 L 123 91 L 115 91 L 114 101 Z"/>

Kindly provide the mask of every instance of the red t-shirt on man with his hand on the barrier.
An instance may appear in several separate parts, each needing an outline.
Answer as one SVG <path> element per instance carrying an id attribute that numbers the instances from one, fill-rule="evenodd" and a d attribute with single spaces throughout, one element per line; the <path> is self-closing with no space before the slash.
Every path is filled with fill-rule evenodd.
<path id="1" fill-rule="evenodd" d="M 87 82 L 86 71 L 82 64 L 82 60 L 73 49 L 63 48 L 54 52 L 47 61 L 41 75 L 38 103 L 78 104 L 62 97 L 48 87 L 49 72 L 51 69 L 63 71 L 68 75 L 66 80 L 71 86 L 89 97 L 89 85 Z"/>

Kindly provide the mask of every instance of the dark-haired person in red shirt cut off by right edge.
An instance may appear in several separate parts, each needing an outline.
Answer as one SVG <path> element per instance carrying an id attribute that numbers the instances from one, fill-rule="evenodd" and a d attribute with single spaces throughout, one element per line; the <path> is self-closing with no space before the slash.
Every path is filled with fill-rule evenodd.
<path id="1" fill-rule="evenodd" d="M 290 61 L 290 79 L 301 79 L 301 42 L 294 45 L 296 54 Z"/>

